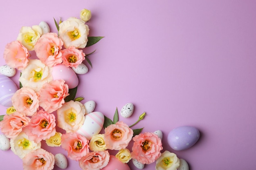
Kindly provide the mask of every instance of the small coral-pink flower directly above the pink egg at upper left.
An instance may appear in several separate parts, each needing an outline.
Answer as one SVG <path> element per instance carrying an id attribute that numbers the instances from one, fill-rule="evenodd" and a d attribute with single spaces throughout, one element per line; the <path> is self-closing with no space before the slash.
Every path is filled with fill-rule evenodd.
<path id="1" fill-rule="evenodd" d="M 61 50 L 63 64 L 67 67 L 77 68 L 79 64 L 85 60 L 85 53 L 82 50 L 76 49 L 74 46 L 68 49 Z"/>

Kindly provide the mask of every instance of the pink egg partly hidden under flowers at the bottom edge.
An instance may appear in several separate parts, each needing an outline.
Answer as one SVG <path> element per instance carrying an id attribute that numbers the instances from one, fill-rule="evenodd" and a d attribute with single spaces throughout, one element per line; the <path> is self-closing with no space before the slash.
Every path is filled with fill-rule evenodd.
<path id="1" fill-rule="evenodd" d="M 110 155 L 108 165 L 101 170 L 130 170 L 130 167 L 127 163 L 119 161 L 114 155 Z"/>

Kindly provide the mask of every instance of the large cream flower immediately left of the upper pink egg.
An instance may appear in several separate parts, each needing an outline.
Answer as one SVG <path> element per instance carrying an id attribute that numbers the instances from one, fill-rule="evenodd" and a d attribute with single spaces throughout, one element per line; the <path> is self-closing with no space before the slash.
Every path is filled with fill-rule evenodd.
<path id="1" fill-rule="evenodd" d="M 52 80 L 52 68 L 37 59 L 29 60 L 27 67 L 21 71 L 19 79 L 23 87 L 32 88 L 35 92 Z"/>

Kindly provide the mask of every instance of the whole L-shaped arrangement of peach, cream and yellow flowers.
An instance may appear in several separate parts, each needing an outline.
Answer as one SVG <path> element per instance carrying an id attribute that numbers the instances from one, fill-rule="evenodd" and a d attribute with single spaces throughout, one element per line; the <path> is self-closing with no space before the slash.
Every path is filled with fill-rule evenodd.
<path id="1" fill-rule="evenodd" d="M 2 133 L 10 138 L 11 150 L 22 159 L 24 170 L 54 168 L 54 155 L 41 148 L 42 140 L 48 146 L 61 146 L 83 170 L 106 167 L 108 150 L 119 150 L 116 157 L 123 163 L 133 158 L 143 164 L 157 161 L 157 170 L 176 169 L 179 159 L 168 151 L 161 155 L 162 141 L 156 134 L 134 135 L 123 121 L 110 124 L 104 134 L 94 135 L 90 141 L 76 133 L 88 113 L 81 100 L 65 101 L 69 87 L 63 79 L 53 80 L 52 67 L 64 64 L 76 68 L 85 60 L 85 53 L 79 49 L 88 42 L 89 27 L 85 22 L 90 17 L 90 11 L 82 10 L 81 19 L 69 18 L 58 24 L 58 34 L 43 34 L 37 25 L 23 26 L 17 40 L 7 44 L 4 59 L 21 72 L 21 87 L 0 122 Z M 33 50 L 38 59 L 29 59 L 29 51 Z M 56 126 L 66 133 L 57 132 Z M 134 141 L 132 152 L 126 148 L 130 141 Z"/>

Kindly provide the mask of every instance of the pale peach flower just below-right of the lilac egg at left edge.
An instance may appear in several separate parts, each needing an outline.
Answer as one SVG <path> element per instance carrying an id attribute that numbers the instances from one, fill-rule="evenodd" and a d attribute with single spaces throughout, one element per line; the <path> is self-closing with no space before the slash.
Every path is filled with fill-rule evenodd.
<path id="1" fill-rule="evenodd" d="M 13 107 L 17 112 L 32 116 L 39 108 L 39 100 L 36 92 L 28 87 L 22 87 L 11 97 Z"/>

